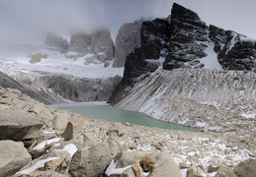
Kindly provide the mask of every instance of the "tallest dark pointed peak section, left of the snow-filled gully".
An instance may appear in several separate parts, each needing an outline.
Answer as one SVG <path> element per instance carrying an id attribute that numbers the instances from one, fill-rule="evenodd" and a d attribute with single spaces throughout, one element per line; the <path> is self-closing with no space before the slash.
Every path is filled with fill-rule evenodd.
<path id="1" fill-rule="evenodd" d="M 208 27 L 191 10 L 173 5 L 170 35 L 170 52 L 163 64 L 164 69 L 183 68 L 186 62 L 195 66 L 198 63 L 191 61 L 207 56 L 204 42 L 208 41 Z"/>

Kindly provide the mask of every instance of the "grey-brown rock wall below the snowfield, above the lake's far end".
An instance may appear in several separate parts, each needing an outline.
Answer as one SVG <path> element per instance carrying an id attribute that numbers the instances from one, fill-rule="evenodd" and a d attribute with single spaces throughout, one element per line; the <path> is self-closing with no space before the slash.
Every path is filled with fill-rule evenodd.
<path id="1" fill-rule="evenodd" d="M 67 75 L 43 76 L 33 82 L 34 88 L 50 88 L 66 99 L 77 102 L 106 101 L 121 77 L 105 79 L 75 78 Z"/>

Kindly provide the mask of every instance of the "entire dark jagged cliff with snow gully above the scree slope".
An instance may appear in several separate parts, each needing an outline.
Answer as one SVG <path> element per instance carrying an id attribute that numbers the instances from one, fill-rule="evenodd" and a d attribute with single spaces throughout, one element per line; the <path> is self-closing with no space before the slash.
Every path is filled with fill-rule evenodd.
<path id="1" fill-rule="evenodd" d="M 140 45 L 127 56 L 125 73 L 109 102 L 126 97 L 136 83 L 157 69 L 216 68 L 255 70 L 255 40 L 231 30 L 208 27 L 176 3 L 171 16 L 143 22 Z"/>

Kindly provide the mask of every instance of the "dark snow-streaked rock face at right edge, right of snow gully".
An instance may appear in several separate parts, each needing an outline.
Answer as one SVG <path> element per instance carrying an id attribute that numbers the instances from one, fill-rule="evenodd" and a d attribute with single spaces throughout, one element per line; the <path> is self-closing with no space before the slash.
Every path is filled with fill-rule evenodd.
<path id="1" fill-rule="evenodd" d="M 223 69 L 253 70 L 256 67 L 256 41 L 231 30 L 210 26 L 210 38 Z"/>

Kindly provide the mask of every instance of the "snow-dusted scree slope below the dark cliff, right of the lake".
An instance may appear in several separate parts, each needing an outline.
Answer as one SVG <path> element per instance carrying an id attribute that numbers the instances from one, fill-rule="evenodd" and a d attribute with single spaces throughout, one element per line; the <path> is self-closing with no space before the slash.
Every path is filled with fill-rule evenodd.
<path id="1" fill-rule="evenodd" d="M 209 69 L 157 71 L 117 108 L 186 126 L 255 129 L 256 73 Z"/>

